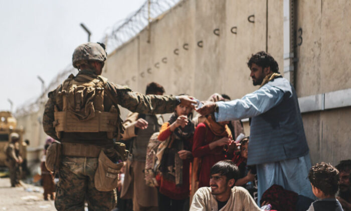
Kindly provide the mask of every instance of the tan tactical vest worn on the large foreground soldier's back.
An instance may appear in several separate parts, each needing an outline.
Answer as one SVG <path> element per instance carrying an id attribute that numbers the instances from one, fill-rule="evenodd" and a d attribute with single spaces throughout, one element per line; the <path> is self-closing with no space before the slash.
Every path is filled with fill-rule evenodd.
<path id="1" fill-rule="evenodd" d="M 78 77 L 85 80 L 76 80 Z M 120 134 L 119 109 L 111 100 L 104 99 L 109 91 L 105 89 L 106 82 L 102 76 L 92 78 L 80 74 L 74 77 L 71 74 L 62 83 L 56 95 L 53 123 L 58 138 L 62 137 L 62 132 L 106 132 L 108 139 Z"/>

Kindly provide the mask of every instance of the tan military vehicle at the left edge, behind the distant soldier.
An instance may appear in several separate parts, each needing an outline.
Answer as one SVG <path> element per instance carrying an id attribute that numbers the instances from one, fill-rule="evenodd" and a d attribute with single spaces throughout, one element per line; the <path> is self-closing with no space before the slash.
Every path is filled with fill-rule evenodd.
<path id="1" fill-rule="evenodd" d="M 27 144 L 23 141 L 23 128 L 16 128 L 17 120 L 11 112 L 0 112 L 0 167 L 5 167 L 6 148 L 10 143 L 10 134 L 18 133 L 20 135 L 20 153 L 23 159 L 27 157 Z"/>

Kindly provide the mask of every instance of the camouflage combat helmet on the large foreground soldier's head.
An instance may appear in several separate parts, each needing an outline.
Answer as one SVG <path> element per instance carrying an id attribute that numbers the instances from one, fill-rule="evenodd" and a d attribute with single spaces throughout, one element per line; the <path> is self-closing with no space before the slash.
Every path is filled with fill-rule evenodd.
<path id="1" fill-rule="evenodd" d="M 73 52 L 72 63 L 73 67 L 79 68 L 79 64 L 86 61 L 105 62 L 107 53 L 105 45 L 101 43 L 83 43 L 79 45 Z"/>

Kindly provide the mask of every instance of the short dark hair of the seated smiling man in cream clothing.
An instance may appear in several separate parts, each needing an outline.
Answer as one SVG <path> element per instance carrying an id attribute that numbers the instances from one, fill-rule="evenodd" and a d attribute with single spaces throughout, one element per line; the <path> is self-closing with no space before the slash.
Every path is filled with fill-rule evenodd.
<path id="1" fill-rule="evenodd" d="M 235 179 L 236 181 L 240 176 L 238 166 L 236 166 L 231 160 L 222 160 L 213 165 L 210 171 L 210 175 L 213 174 L 226 176 L 227 181 L 230 179 Z"/>

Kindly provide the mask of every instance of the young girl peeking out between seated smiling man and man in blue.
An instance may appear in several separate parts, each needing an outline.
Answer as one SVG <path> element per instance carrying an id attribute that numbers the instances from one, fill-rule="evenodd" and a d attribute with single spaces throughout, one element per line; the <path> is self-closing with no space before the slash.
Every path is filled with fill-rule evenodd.
<path id="1" fill-rule="evenodd" d="M 247 155 L 248 155 L 248 144 L 249 137 L 243 138 L 240 141 L 240 151 L 236 152 L 233 157 L 233 162 L 238 166 L 240 176 L 235 181 L 236 186 L 245 187 L 251 194 L 251 196 L 257 200 L 257 179 L 255 178 L 256 168 L 255 166 L 247 166 Z"/>

